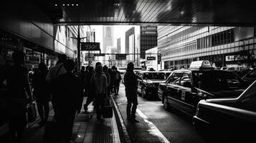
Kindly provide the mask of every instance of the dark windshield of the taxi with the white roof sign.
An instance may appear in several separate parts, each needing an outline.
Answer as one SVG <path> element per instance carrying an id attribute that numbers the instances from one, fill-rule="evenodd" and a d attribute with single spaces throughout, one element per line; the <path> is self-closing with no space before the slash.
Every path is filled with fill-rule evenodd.
<path id="1" fill-rule="evenodd" d="M 242 82 L 229 71 L 194 71 L 192 72 L 195 87 L 209 91 L 242 89 Z"/>

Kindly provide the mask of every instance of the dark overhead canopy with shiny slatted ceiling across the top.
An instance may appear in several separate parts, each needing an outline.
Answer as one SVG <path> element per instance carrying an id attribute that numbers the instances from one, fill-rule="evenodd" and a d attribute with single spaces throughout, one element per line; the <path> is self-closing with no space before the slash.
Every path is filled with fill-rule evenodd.
<path id="1" fill-rule="evenodd" d="M 252 0 L 37 0 L 54 24 L 255 25 Z"/>

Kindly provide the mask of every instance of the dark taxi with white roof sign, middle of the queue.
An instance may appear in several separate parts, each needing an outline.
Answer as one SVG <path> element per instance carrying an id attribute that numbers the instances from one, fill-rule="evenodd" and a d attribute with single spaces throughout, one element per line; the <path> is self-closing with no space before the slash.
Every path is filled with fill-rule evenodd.
<path id="1" fill-rule="evenodd" d="M 214 69 L 209 61 L 192 61 L 189 69 L 174 70 L 158 86 L 164 109 L 176 109 L 194 116 L 202 99 L 238 97 L 245 82 L 230 71 Z"/>

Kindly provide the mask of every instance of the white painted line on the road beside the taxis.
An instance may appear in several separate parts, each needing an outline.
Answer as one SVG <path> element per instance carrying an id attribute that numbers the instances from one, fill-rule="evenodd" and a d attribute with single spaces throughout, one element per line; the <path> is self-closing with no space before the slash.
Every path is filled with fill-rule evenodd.
<path id="1" fill-rule="evenodd" d="M 143 114 L 143 112 L 141 112 L 140 109 L 136 109 L 136 112 L 138 113 L 138 115 L 140 117 L 143 118 L 144 122 L 146 122 L 146 124 L 148 124 L 148 127 L 149 127 L 148 132 L 150 132 L 150 134 L 153 134 L 156 137 L 158 137 L 158 139 L 162 143 L 170 143 L 169 140 L 166 139 L 166 137 L 164 137 L 163 134 L 159 131 L 159 129 L 157 129 L 155 124 L 153 124 L 152 122 L 148 121 L 148 117 L 146 117 L 146 115 Z"/>

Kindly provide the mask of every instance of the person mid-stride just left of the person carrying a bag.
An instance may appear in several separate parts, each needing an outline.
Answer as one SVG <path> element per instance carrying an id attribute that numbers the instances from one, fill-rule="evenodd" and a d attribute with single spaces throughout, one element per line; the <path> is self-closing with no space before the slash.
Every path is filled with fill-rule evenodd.
<path id="1" fill-rule="evenodd" d="M 93 74 L 95 74 L 95 71 L 93 69 L 93 66 L 90 66 L 88 69 L 88 74 L 85 77 L 85 92 L 87 93 L 87 99 L 85 104 L 83 105 L 85 113 L 87 113 L 88 105 L 95 99 L 95 94 L 93 93 L 93 86 L 90 83 L 90 79 L 93 77 Z"/>

